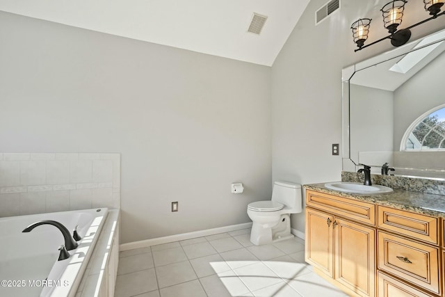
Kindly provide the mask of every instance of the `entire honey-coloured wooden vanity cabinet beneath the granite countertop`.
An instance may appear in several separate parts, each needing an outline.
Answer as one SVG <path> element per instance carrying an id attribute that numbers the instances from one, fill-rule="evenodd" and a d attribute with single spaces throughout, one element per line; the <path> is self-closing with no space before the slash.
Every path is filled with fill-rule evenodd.
<path id="1" fill-rule="evenodd" d="M 306 262 L 348 295 L 445 297 L 443 218 L 312 189 L 306 205 Z"/>

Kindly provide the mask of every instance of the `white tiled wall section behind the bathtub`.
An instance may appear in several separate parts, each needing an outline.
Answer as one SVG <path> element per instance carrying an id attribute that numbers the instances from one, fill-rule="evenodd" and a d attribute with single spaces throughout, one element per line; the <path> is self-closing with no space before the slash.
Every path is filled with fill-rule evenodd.
<path id="1" fill-rule="evenodd" d="M 0 217 L 120 207 L 118 153 L 0 153 Z"/>

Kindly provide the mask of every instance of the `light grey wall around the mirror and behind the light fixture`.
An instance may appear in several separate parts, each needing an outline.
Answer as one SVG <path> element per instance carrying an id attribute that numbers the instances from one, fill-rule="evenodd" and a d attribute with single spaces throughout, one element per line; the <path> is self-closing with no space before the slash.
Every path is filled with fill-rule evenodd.
<path id="1" fill-rule="evenodd" d="M 302 184 L 341 179 L 341 69 L 391 49 L 388 40 L 355 53 L 350 25 L 373 19 L 369 42 L 387 35 L 380 9 L 387 1 L 342 0 L 341 9 L 315 25 L 326 0 L 312 0 L 272 67 L 273 179 Z M 408 13 L 408 11 L 410 11 Z M 426 19 L 422 1 L 409 1 L 403 26 Z M 412 29 L 412 40 L 444 27 L 441 20 Z M 292 218 L 304 231 L 304 215 Z"/>

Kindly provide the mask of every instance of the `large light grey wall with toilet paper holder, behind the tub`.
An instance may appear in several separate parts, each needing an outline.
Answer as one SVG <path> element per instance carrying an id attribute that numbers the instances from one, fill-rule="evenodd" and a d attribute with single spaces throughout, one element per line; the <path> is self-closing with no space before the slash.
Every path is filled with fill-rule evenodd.
<path id="1" fill-rule="evenodd" d="M 0 152 L 120 152 L 122 243 L 270 198 L 270 67 L 8 13 L 0 40 Z"/>

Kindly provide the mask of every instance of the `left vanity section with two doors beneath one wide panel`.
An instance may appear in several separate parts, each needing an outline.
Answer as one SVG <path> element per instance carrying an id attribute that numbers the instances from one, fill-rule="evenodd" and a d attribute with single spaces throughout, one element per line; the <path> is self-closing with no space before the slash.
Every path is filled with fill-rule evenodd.
<path id="1" fill-rule="evenodd" d="M 306 197 L 306 262 L 350 296 L 375 296 L 375 205 L 315 191 Z"/>

